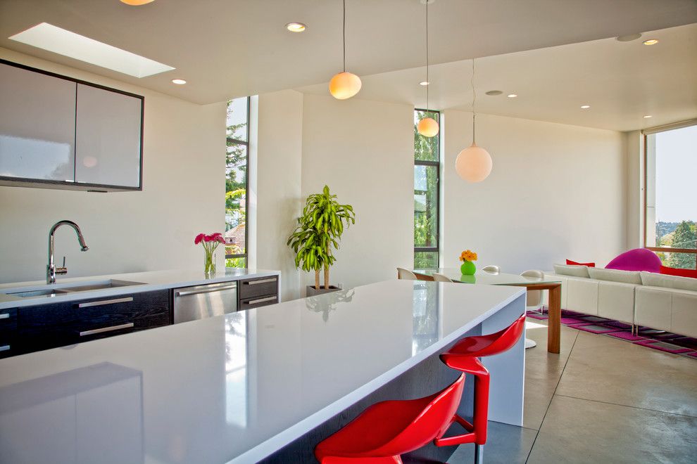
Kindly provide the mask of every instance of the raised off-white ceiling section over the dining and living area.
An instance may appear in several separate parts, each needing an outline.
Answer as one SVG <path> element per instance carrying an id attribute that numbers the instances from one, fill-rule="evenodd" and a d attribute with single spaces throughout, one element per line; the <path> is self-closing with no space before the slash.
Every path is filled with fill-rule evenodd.
<path id="1" fill-rule="evenodd" d="M 659 43 L 643 45 L 649 37 Z M 425 75 L 418 67 L 363 76 L 358 95 L 425 108 L 426 89 L 418 84 Z M 472 60 L 432 65 L 429 75 L 429 108 L 471 110 Z M 697 117 L 697 24 L 629 42 L 601 39 L 478 58 L 475 89 L 477 111 L 493 115 L 617 131 L 688 120 Z M 299 90 L 327 94 L 327 85 Z M 489 90 L 503 94 L 487 96 Z"/>

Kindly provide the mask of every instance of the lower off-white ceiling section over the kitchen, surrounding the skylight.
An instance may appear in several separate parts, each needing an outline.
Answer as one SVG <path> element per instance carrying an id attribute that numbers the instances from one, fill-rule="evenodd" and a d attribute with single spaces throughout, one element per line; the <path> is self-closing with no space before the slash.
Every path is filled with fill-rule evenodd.
<path id="1" fill-rule="evenodd" d="M 420 0 L 347 0 L 347 65 L 358 75 L 424 60 Z M 697 22 L 695 0 L 436 0 L 432 63 Z M 308 30 L 284 29 L 290 21 Z M 39 22 L 177 68 L 142 79 L 8 40 Z M 327 82 L 341 67 L 340 0 L 0 0 L 0 46 L 196 103 Z M 170 80 L 189 82 L 175 86 Z"/>

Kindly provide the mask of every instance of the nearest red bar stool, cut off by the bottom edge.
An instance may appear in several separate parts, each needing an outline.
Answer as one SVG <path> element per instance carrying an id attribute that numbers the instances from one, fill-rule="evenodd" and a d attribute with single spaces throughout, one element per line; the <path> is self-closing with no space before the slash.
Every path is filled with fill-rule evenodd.
<path id="1" fill-rule="evenodd" d="M 401 463 L 400 455 L 442 437 L 453 423 L 465 374 L 430 397 L 382 401 L 315 446 L 322 464 Z"/>

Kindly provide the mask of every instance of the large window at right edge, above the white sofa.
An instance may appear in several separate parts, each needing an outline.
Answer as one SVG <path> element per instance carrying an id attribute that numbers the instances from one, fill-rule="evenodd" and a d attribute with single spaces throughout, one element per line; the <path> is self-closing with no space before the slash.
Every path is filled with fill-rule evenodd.
<path id="1" fill-rule="evenodd" d="M 646 247 L 664 266 L 697 269 L 697 125 L 647 134 Z"/>

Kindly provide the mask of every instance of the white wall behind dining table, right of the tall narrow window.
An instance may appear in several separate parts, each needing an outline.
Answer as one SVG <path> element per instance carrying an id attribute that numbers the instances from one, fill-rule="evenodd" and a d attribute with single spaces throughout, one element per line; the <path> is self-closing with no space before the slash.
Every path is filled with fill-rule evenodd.
<path id="1" fill-rule="evenodd" d="M 604 265 L 625 250 L 620 132 L 477 115 L 477 144 L 494 168 L 482 183 L 467 183 L 454 167 L 472 142 L 472 113 L 448 110 L 444 124 L 444 266 L 458 266 L 467 248 L 478 266 L 513 273 L 567 258 Z"/>

